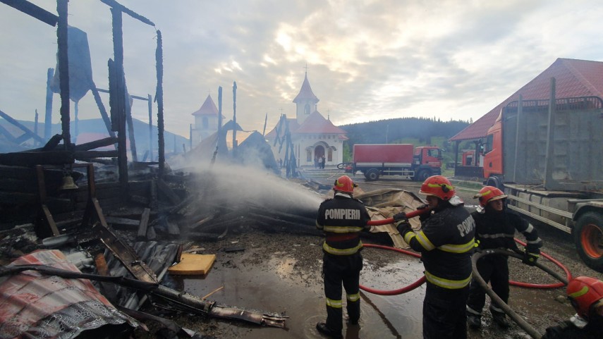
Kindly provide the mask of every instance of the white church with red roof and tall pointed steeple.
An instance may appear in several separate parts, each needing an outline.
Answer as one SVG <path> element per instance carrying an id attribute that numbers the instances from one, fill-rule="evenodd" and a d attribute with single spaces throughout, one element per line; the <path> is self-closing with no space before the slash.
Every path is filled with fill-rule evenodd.
<path id="1" fill-rule="evenodd" d="M 336 166 L 343 162 L 343 141 L 348 140 L 346 131 L 337 127 L 329 118 L 324 118 L 317 110 L 319 99 L 312 92 L 307 72 L 300 92 L 293 99 L 296 104 L 296 117 L 286 118 L 291 132 L 291 143 L 297 158 L 297 166 L 316 166 L 318 159 L 324 159 L 326 166 Z M 280 123 L 280 121 L 279 121 Z M 277 124 L 265 136 L 272 147 L 277 162 L 284 161 L 286 147 L 280 147 L 275 140 L 284 137 L 284 130 Z M 277 132 L 279 130 L 279 133 Z"/>

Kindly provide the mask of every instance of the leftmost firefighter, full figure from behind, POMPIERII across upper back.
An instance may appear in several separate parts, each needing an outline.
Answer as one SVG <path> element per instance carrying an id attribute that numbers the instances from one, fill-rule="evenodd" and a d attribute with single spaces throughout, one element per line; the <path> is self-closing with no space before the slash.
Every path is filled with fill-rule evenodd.
<path id="1" fill-rule="evenodd" d="M 343 338 L 342 284 L 346 290 L 348 321 L 357 325 L 360 320 L 363 243 L 359 232 L 370 227 L 367 226 L 370 216 L 364 204 L 353 198 L 354 187 L 357 185 L 348 175 L 335 180 L 334 197 L 320 204 L 316 218 L 316 227 L 326 235 L 322 244 L 322 276 L 327 298 L 327 321 L 317 323 L 316 329 L 331 338 Z"/>

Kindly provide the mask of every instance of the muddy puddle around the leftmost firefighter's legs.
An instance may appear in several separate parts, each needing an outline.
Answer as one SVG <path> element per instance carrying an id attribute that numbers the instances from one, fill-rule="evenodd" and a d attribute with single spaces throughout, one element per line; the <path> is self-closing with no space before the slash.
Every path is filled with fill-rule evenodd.
<path id="1" fill-rule="evenodd" d="M 312 251 L 311 263 L 300 262 L 295 254 Z M 418 259 L 398 254 L 384 263 L 377 253 L 365 249 L 365 268 L 360 283 L 370 288 L 394 290 L 413 283 L 422 273 Z M 284 312 L 290 318 L 286 328 L 254 326 L 221 319 L 176 319 L 182 326 L 217 338 L 324 338 L 315 326 L 326 318 L 322 290 L 322 254 L 315 245 L 299 245 L 294 251 L 273 252 L 268 259 L 261 248 L 245 252 L 221 252 L 207 276 L 173 276 L 173 283 L 185 292 L 209 300 L 265 312 Z M 395 255 L 395 254 L 394 254 Z M 303 257 L 303 256 L 301 256 Z M 307 258 L 305 259 L 307 260 Z M 391 261 L 391 259 L 389 260 Z M 420 338 L 424 286 L 405 295 L 381 296 L 361 291 L 359 326 L 343 324 L 344 338 Z M 345 294 L 343 295 L 345 303 Z M 345 306 L 344 306 L 345 317 Z M 186 323 L 183 323 L 186 321 Z M 214 333 L 214 334 L 212 334 Z"/>

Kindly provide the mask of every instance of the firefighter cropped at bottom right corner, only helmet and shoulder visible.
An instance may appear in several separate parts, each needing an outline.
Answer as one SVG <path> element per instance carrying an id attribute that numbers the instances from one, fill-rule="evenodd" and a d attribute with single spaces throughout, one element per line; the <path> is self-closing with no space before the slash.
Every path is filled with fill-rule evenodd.
<path id="1" fill-rule="evenodd" d="M 568 299 L 577 314 L 547 328 L 542 339 L 599 339 L 603 333 L 603 281 L 579 276 L 568 283 Z"/>

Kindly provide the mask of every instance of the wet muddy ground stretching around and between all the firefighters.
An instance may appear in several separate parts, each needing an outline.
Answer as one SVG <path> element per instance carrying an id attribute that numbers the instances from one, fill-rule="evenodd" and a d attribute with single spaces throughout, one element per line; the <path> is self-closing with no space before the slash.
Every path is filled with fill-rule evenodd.
<path id="1" fill-rule="evenodd" d="M 327 179 L 327 180 L 330 180 Z M 326 183 L 326 180 L 325 180 Z M 364 183 L 365 192 L 389 187 L 407 187 L 417 192 L 418 183 L 411 181 L 379 180 Z M 468 208 L 475 208 L 472 187 L 459 189 Z M 308 226 L 313 227 L 313 226 Z M 573 249 L 571 236 L 554 228 L 539 228 L 544 240 L 544 252 L 558 259 L 574 276 L 601 278 L 601 273 L 588 269 Z M 364 240 L 364 242 L 370 242 Z M 315 324 L 326 316 L 322 292 L 321 237 L 290 233 L 231 234 L 220 242 L 197 243 L 199 253 L 217 254 L 217 261 L 207 276 L 171 277 L 176 288 L 194 295 L 205 296 L 214 290 L 209 300 L 267 312 L 284 312 L 289 316 L 286 328 L 248 325 L 240 321 L 203 319 L 181 314 L 174 316 L 181 326 L 216 338 L 323 338 Z M 243 247 L 240 252 L 225 252 L 225 247 Z M 385 249 L 366 248 L 363 251 L 365 269 L 361 284 L 391 290 L 412 283 L 422 274 L 419 259 Z M 547 264 L 549 265 L 549 264 Z M 550 264 L 553 266 L 552 264 Z M 528 283 L 554 283 L 554 279 L 539 269 L 530 268 L 510 259 L 511 280 Z M 556 269 L 561 272 L 560 269 Z M 362 292 L 362 318 L 359 326 L 344 323 L 344 338 L 422 338 L 421 312 L 425 286 L 404 295 L 381 296 Z M 487 301 L 488 304 L 489 301 Z M 541 333 L 548 326 L 573 314 L 564 297 L 564 289 L 552 290 L 511 287 L 510 306 Z M 492 324 L 487 306 L 482 328 L 468 332 L 470 339 L 530 338 L 516 324 L 501 329 Z"/>

